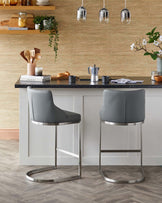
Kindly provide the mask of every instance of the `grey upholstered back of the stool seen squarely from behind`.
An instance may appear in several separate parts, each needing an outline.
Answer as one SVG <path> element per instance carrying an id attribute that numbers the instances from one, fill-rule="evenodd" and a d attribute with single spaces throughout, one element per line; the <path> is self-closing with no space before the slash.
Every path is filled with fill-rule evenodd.
<path id="1" fill-rule="evenodd" d="M 101 121 L 137 123 L 145 119 L 145 90 L 104 90 Z"/>

